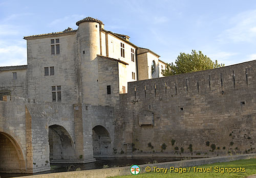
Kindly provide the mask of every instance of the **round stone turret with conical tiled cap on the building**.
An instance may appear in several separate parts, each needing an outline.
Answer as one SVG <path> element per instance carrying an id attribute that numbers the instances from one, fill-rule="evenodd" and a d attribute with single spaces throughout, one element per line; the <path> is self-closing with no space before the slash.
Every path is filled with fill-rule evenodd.
<path id="1" fill-rule="evenodd" d="M 78 88 L 81 103 L 99 105 L 98 60 L 100 55 L 100 27 L 103 23 L 92 17 L 84 18 L 76 25 L 78 52 Z"/>

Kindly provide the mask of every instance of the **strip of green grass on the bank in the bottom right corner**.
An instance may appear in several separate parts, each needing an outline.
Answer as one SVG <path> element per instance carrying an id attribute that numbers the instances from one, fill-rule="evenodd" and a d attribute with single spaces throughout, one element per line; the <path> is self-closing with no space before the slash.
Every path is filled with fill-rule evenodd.
<path id="1" fill-rule="evenodd" d="M 231 173 L 220 173 L 214 172 L 214 167 L 221 167 L 221 168 L 245 168 L 245 172 L 231 172 Z M 207 164 L 198 166 L 198 168 L 209 168 L 212 167 L 212 172 L 194 172 L 194 168 L 190 168 L 190 172 L 170 172 L 170 168 L 166 174 L 164 173 L 139 173 L 137 175 L 126 175 L 126 176 L 115 176 L 115 177 L 247 177 L 252 174 L 256 174 L 256 159 L 249 159 L 249 160 L 238 160 L 238 161 L 231 161 L 226 163 L 215 163 L 215 164 Z M 154 171 L 153 167 L 151 170 Z M 187 168 L 188 170 L 188 168 Z"/>

